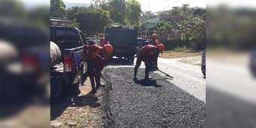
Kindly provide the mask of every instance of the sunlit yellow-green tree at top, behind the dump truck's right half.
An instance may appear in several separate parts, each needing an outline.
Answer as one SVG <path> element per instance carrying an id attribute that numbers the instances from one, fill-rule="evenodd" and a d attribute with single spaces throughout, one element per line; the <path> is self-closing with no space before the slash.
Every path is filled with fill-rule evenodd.
<path id="1" fill-rule="evenodd" d="M 142 13 L 141 5 L 136 0 L 127 2 L 127 19 L 131 25 L 139 26 L 139 17 Z"/>

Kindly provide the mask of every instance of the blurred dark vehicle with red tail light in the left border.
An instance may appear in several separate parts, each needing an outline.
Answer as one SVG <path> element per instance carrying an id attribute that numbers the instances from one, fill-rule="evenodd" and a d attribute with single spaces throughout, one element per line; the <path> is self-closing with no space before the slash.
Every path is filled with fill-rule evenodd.
<path id="1" fill-rule="evenodd" d="M 48 30 L 32 24 L 17 17 L 0 18 L 1 101 L 49 96 Z"/>

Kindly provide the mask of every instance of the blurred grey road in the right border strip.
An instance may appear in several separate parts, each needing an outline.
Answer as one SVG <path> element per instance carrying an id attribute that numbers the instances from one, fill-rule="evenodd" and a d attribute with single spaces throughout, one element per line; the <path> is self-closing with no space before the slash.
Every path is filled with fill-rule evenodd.
<path id="1" fill-rule="evenodd" d="M 206 65 L 207 126 L 254 128 L 256 80 L 248 67 L 218 59 L 207 59 Z"/>

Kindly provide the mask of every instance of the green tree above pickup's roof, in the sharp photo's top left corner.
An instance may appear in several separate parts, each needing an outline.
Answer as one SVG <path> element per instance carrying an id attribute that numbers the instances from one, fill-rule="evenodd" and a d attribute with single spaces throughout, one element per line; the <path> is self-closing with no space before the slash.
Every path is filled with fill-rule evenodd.
<path id="1" fill-rule="evenodd" d="M 50 17 L 66 18 L 66 5 L 61 0 L 50 0 Z"/>

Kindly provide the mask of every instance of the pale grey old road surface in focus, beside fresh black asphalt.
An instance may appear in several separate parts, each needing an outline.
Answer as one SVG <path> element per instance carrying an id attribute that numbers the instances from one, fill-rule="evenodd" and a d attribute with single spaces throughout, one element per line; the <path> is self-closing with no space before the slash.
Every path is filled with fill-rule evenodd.
<path id="1" fill-rule="evenodd" d="M 123 66 L 120 65 L 110 65 L 109 68 L 121 68 L 121 67 L 134 67 L 136 59 L 133 64 L 128 64 Z M 142 62 L 141 69 L 145 68 L 144 62 Z M 206 102 L 206 79 L 203 78 L 200 66 L 190 65 L 184 62 L 178 62 L 177 59 L 163 59 L 158 58 L 158 68 L 166 72 L 168 75 L 172 76 L 172 80 L 167 80 L 176 87 L 181 88 L 181 90 L 190 93 L 190 95 L 197 97 L 203 102 Z M 160 75 L 163 73 L 154 72 Z"/>

